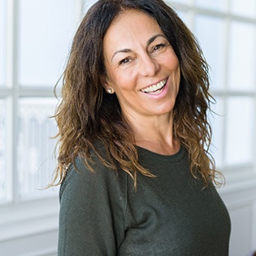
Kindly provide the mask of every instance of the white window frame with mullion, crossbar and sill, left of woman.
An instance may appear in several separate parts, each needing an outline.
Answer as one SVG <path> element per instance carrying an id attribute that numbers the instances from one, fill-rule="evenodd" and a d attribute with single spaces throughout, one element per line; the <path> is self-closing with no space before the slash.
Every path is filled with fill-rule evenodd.
<path id="1" fill-rule="evenodd" d="M 53 87 L 20 86 L 18 82 L 18 44 L 19 44 L 19 4 L 16 0 L 6 2 L 6 38 L 4 47 L 6 55 L 6 77 L 0 86 L 0 100 L 6 104 L 5 132 L 7 143 L 5 148 L 7 168 L 7 196 L 0 201 L 0 244 L 11 239 L 22 239 L 46 231 L 58 230 L 59 187 L 50 190 L 45 196 L 21 198 L 18 191 L 17 141 L 18 113 L 20 98 L 54 98 Z M 76 31 L 84 15 L 84 0 L 72 2 L 74 13 L 73 30 Z M 72 38 L 71 38 L 72 41 Z M 67 49 L 68 50 L 68 49 Z M 66 56 L 63 56 L 63 59 Z M 56 81 L 57 82 L 57 81 Z M 60 86 L 61 87 L 61 86 Z M 57 93 L 60 95 L 60 88 Z M 57 101 L 56 101 L 57 102 Z M 54 110 L 53 110 L 54 113 Z M 54 149 L 53 149 L 54 150 Z M 54 170 L 52 170 L 54 171 Z M 43 193 L 43 192 L 42 192 Z M 56 243 L 57 246 L 57 243 Z"/>

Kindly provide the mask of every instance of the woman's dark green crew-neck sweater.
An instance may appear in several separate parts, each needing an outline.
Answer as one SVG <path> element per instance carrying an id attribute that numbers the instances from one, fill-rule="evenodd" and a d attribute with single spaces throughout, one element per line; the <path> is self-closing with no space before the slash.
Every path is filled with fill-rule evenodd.
<path id="1" fill-rule="evenodd" d="M 80 158 L 60 189 L 59 256 L 228 255 L 230 219 L 213 185 L 189 172 L 184 147 L 171 156 L 138 148 L 156 178 L 130 176 Z"/>

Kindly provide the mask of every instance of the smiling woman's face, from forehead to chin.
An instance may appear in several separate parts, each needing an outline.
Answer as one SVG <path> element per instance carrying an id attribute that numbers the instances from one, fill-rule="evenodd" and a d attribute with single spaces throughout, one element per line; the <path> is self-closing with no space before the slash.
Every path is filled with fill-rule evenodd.
<path id="1" fill-rule="evenodd" d="M 104 86 L 128 117 L 170 114 L 180 86 L 180 63 L 156 20 L 124 11 L 103 41 Z"/>

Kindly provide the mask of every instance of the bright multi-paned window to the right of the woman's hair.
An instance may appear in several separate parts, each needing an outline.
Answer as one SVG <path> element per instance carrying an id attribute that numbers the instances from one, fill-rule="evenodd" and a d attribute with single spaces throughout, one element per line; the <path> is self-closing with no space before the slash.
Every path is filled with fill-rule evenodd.
<path id="1" fill-rule="evenodd" d="M 167 1 L 196 35 L 210 64 L 211 93 L 218 115 L 212 153 L 217 167 L 255 172 L 256 2 L 254 0 Z M 241 179 L 245 179 L 242 175 Z"/>

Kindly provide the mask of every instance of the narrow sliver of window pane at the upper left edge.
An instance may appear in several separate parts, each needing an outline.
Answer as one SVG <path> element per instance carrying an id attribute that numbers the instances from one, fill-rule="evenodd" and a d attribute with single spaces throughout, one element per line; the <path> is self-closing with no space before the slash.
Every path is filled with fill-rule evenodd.
<path id="1" fill-rule="evenodd" d="M 4 63 L 6 58 L 6 2 L 0 0 L 0 86 L 5 84 L 6 65 Z"/>

